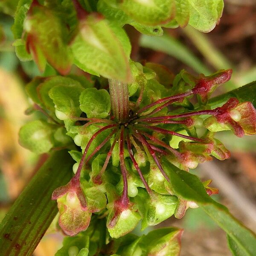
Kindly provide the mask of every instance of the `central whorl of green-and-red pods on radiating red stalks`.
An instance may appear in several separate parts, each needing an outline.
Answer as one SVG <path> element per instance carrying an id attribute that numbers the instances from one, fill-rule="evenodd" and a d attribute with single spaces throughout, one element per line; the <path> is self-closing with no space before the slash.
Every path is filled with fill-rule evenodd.
<path id="1" fill-rule="evenodd" d="M 75 175 L 52 195 L 52 199 L 58 201 L 62 230 L 70 236 L 86 230 L 94 213 L 108 216 L 108 231 L 111 237 L 118 238 L 133 230 L 141 219 L 144 229 L 172 215 L 181 218 L 188 207 L 197 207 L 194 202 L 175 195 L 170 169 L 189 171 L 198 163 L 212 160 L 212 156 L 219 160 L 230 157 L 230 152 L 214 138 L 216 131 L 230 129 L 238 137 L 255 134 L 256 111 L 250 102 L 239 103 L 231 98 L 215 109 L 206 105 L 209 93 L 228 81 L 231 73 L 231 70 L 221 70 L 198 79 L 190 76 L 184 92 L 172 95 L 175 86 L 188 77 L 183 73 L 183 78 L 173 81 L 171 89 L 162 87 L 161 93 L 170 93 L 170 96 L 155 100 L 153 96 L 157 91 L 153 86 L 161 85 L 151 77 L 154 70 L 142 68 L 140 90 L 130 96 L 128 109 L 125 109 L 122 93 L 117 93 L 116 109 L 112 112 L 115 115 L 106 113 L 105 118 L 95 114 L 98 102 L 94 102 L 95 106 L 81 108 L 87 117 L 60 112 L 54 92 L 50 92 L 57 116 L 64 117 L 68 132 L 73 133 L 76 145 L 81 146 L 83 152 L 78 156 L 79 151 L 70 151 L 77 161 Z M 115 87 L 126 86 L 130 91 L 134 86 L 111 83 Z M 103 92 L 106 91 L 85 89 L 79 98 L 80 106 L 84 99 L 100 99 Z M 194 95 L 200 99 L 198 108 L 189 110 L 186 106 Z M 71 119 L 76 120 L 76 125 L 70 125 Z M 202 128 L 206 129 L 200 137 L 197 131 Z M 218 190 L 208 187 L 209 183 L 204 183 L 206 192 L 217 193 Z"/>

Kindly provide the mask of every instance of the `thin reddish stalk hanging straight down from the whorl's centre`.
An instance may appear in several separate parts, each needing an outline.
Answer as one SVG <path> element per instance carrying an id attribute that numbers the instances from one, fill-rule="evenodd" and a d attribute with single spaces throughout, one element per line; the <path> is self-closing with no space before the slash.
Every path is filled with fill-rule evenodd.
<path id="1" fill-rule="evenodd" d="M 120 138 L 119 138 L 119 158 L 120 158 L 120 168 L 123 177 L 124 188 L 121 197 L 121 203 L 123 206 L 128 207 L 128 182 L 127 182 L 127 169 L 125 166 L 125 157 L 124 157 L 124 126 L 121 127 Z"/>

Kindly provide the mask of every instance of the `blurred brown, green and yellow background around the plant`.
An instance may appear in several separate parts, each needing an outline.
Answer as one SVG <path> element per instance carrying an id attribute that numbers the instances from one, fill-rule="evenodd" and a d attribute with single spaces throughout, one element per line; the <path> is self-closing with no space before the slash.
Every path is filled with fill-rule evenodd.
<path id="1" fill-rule="evenodd" d="M 11 31 L 17 0 L 0 0 L 0 220 L 20 191 L 47 159 L 18 144 L 18 131 L 27 120 L 24 111 L 29 101 L 24 85 L 40 75 L 33 61 L 20 62 L 12 47 Z M 164 64 L 173 73 L 186 69 L 192 74 L 209 75 L 232 68 L 232 79 L 215 95 L 256 80 L 256 0 L 224 0 L 220 23 L 208 33 L 186 27 L 169 29 L 162 37 L 140 35 L 125 27 L 133 45 L 135 61 Z M 81 70 L 74 70 L 81 74 Z M 219 134 L 232 152 L 229 160 L 201 164 L 195 174 L 213 179 L 219 188 L 215 198 L 247 227 L 256 232 L 256 137 Z M 170 218 L 161 226 L 183 227 L 181 256 L 231 256 L 225 233 L 201 209 L 189 209 L 181 220 Z M 53 256 L 61 246 L 62 235 L 50 228 L 35 251 L 35 256 Z"/>

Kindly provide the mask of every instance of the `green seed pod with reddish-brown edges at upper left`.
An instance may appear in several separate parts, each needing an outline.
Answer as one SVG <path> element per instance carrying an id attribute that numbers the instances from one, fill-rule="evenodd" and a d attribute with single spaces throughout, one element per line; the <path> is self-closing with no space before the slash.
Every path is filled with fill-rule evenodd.
<path id="1" fill-rule="evenodd" d="M 59 73 L 66 75 L 72 64 L 72 55 L 65 41 L 67 27 L 44 6 L 34 5 L 31 10 L 24 21 L 29 52 L 41 71 L 44 71 L 42 61 L 46 58 Z"/>

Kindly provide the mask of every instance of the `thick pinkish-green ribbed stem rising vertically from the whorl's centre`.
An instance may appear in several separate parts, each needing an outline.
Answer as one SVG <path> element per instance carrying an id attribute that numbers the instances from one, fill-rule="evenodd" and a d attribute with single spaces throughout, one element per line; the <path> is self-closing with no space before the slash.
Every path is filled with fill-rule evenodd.
<path id="1" fill-rule="evenodd" d="M 108 79 L 108 83 L 113 116 L 119 123 L 125 123 L 130 112 L 128 86 L 113 79 Z"/>

